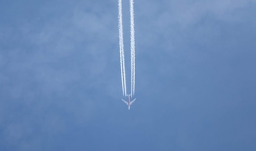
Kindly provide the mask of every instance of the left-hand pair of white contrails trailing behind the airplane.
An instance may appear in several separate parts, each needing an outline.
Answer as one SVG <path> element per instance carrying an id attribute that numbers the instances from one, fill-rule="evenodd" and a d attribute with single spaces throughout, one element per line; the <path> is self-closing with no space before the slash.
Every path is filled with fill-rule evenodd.
<path id="1" fill-rule="evenodd" d="M 123 95 L 126 96 L 126 75 L 125 75 L 125 61 L 124 61 L 124 50 L 123 50 L 122 0 L 118 0 L 118 28 L 119 28 L 121 80 L 122 80 Z"/>

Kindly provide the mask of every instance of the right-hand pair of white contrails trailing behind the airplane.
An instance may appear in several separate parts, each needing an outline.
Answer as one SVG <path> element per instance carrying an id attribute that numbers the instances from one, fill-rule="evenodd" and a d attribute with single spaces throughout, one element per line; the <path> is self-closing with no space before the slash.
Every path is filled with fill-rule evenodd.
<path id="1" fill-rule="evenodd" d="M 134 35 L 134 9 L 133 0 L 130 0 L 130 28 L 131 28 L 131 96 L 135 90 L 135 35 Z"/>

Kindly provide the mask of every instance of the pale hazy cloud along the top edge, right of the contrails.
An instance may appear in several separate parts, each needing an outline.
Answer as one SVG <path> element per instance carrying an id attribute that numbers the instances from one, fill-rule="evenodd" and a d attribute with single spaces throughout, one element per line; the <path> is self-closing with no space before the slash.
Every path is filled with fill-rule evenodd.
<path id="1" fill-rule="evenodd" d="M 136 37 L 139 40 L 136 45 L 152 47 L 161 43 L 166 47 L 175 48 L 177 40 L 184 39 L 183 36 L 191 31 L 194 25 L 209 28 L 201 24 L 204 19 L 212 18 L 227 24 L 243 23 L 247 16 L 245 14 L 247 9 L 255 5 L 255 0 L 161 0 L 157 2 L 147 0 L 136 2 L 135 28 Z M 220 33 L 216 27 L 210 27 L 209 30 L 213 31 L 207 33 L 209 36 Z"/>

